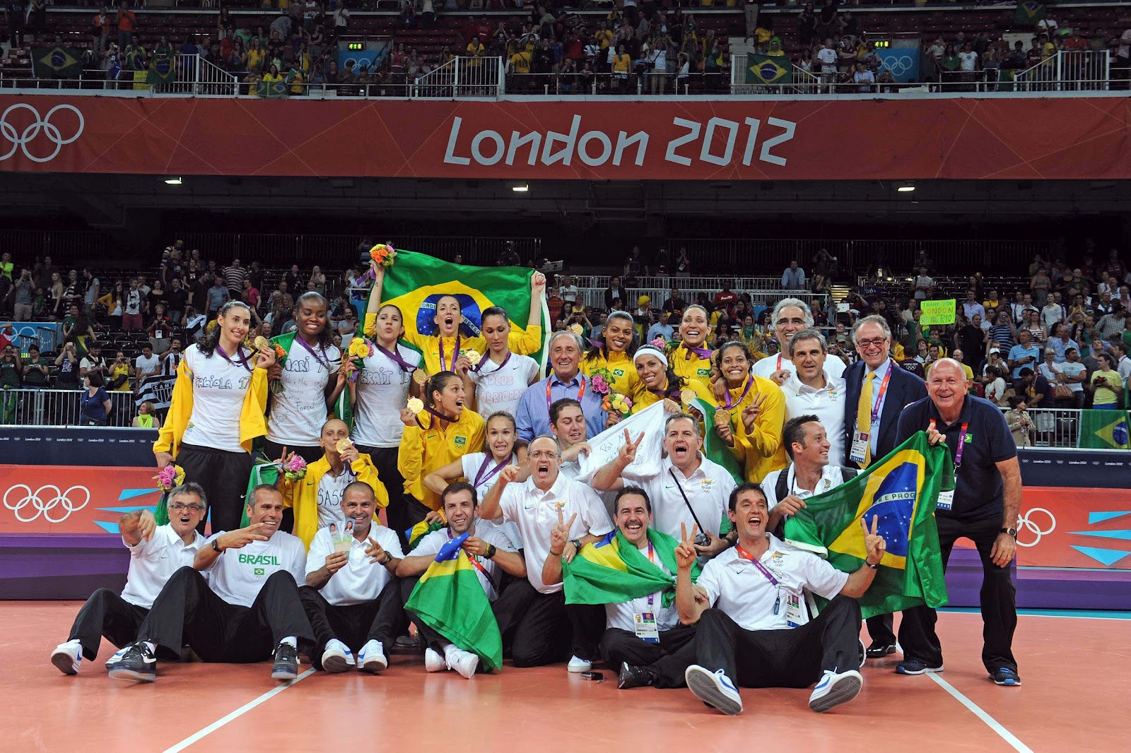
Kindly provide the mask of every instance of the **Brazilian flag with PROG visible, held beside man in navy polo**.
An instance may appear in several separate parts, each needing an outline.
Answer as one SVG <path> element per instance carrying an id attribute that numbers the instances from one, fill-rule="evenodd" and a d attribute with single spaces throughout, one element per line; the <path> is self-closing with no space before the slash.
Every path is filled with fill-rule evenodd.
<path id="1" fill-rule="evenodd" d="M 878 534 L 887 552 L 875 580 L 860 598 L 865 617 L 913 606 L 947 603 L 934 507 L 940 491 L 953 488 L 953 465 L 946 444 L 930 447 L 918 432 L 832 491 L 805 501 L 785 523 L 787 542 L 824 549 L 837 570 L 854 572 L 864 557 L 861 518 Z"/>

